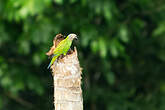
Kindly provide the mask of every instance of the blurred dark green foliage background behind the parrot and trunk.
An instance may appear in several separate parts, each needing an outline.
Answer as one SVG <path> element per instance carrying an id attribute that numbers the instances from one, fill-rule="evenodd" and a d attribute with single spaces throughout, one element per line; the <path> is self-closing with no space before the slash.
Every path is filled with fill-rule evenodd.
<path id="1" fill-rule="evenodd" d="M 0 110 L 53 110 L 58 33 L 79 35 L 84 110 L 165 110 L 164 0 L 0 0 Z"/>

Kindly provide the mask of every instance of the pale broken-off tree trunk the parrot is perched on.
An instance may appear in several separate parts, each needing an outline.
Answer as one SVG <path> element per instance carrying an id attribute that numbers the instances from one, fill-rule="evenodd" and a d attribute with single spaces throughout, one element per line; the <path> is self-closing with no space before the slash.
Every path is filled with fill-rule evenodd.
<path id="1" fill-rule="evenodd" d="M 81 67 L 77 50 L 60 57 L 51 66 L 54 79 L 55 110 L 83 110 Z"/>

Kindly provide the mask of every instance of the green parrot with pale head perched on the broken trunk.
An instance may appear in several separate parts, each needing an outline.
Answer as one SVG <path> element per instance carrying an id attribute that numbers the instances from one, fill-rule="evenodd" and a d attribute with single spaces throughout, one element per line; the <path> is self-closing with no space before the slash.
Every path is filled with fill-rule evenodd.
<path id="1" fill-rule="evenodd" d="M 56 61 L 56 59 L 60 56 L 60 55 L 66 55 L 67 52 L 70 49 L 70 46 L 72 45 L 72 41 L 73 39 L 76 38 L 77 39 L 77 35 L 76 34 L 69 34 L 64 40 L 62 40 L 57 47 L 55 48 L 54 52 L 53 52 L 53 57 L 51 62 L 49 63 L 48 69 L 50 68 L 50 66 Z"/>

